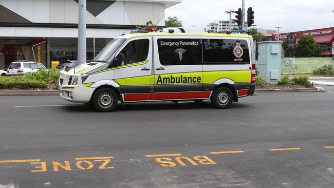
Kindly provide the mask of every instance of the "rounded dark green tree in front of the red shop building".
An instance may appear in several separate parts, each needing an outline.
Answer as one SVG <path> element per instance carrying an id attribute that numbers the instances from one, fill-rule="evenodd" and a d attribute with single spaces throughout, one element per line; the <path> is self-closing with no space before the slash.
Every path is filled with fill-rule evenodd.
<path id="1" fill-rule="evenodd" d="M 313 36 L 303 35 L 299 37 L 296 47 L 296 56 L 301 58 L 318 57 L 319 49 Z"/>

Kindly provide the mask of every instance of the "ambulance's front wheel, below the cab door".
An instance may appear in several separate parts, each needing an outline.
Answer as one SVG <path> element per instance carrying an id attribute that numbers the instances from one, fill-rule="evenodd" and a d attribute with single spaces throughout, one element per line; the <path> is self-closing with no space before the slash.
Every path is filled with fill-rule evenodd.
<path id="1" fill-rule="evenodd" d="M 118 103 L 117 93 L 112 88 L 101 88 L 94 93 L 91 103 L 98 111 L 113 111 Z"/>

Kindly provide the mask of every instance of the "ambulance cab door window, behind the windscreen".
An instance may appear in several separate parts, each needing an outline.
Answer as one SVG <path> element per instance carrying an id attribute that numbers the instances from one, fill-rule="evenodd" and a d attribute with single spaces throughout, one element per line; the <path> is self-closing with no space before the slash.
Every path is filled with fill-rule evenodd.
<path id="1" fill-rule="evenodd" d="M 124 65 L 145 61 L 149 54 L 149 46 L 148 39 L 129 42 L 120 52 L 124 55 Z"/>

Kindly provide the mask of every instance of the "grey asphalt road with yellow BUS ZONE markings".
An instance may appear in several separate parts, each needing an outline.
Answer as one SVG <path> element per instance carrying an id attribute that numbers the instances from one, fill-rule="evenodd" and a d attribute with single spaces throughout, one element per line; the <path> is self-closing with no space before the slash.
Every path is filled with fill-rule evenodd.
<path id="1" fill-rule="evenodd" d="M 101 113 L 0 97 L 0 187 L 334 187 L 334 93 Z"/>

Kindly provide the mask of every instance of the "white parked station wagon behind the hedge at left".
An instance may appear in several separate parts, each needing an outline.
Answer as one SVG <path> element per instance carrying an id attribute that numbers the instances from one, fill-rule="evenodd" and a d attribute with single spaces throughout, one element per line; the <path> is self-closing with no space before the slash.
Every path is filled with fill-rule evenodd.
<path id="1" fill-rule="evenodd" d="M 41 63 L 23 61 L 12 62 L 8 67 L 7 76 L 23 75 L 27 72 L 37 72 L 41 68 L 45 68 Z"/>

